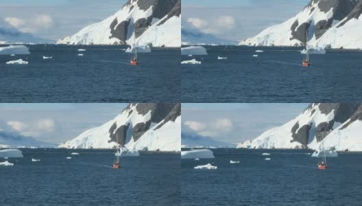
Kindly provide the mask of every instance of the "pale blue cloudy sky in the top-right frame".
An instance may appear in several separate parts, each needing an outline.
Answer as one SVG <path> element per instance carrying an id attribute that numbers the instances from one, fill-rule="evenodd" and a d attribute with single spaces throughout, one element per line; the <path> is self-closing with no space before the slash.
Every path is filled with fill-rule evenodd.
<path id="1" fill-rule="evenodd" d="M 182 26 L 241 41 L 300 12 L 310 0 L 182 0 Z"/>

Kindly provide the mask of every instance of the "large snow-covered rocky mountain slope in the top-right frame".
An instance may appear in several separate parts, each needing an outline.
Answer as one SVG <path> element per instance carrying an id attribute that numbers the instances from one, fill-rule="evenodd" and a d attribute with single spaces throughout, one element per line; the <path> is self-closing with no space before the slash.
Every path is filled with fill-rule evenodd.
<path id="1" fill-rule="evenodd" d="M 362 0 L 311 0 L 291 19 L 242 41 L 241 45 L 362 49 Z M 306 31 L 308 38 L 306 39 Z"/>

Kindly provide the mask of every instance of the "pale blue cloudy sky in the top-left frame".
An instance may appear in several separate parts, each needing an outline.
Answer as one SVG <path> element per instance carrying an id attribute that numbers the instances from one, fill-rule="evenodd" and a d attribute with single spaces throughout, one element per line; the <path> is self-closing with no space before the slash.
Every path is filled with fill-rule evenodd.
<path id="1" fill-rule="evenodd" d="M 121 9 L 126 0 L 1 0 L 0 25 L 57 40 Z"/>

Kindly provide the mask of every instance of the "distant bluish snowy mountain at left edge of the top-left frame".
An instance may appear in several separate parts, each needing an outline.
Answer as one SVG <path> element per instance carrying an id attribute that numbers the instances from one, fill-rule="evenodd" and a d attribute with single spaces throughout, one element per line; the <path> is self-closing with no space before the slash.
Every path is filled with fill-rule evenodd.
<path id="1" fill-rule="evenodd" d="M 29 33 L 19 32 L 15 28 L 0 25 L 0 44 L 40 44 L 54 43 L 45 38 L 38 38 Z"/>

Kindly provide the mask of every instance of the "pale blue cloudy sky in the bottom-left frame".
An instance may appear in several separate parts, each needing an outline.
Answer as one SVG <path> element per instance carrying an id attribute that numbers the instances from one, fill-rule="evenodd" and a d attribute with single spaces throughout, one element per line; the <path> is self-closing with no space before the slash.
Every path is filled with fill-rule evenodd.
<path id="1" fill-rule="evenodd" d="M 127 104 L 0 104 L 0 129 L 63 143 L 121 113 Z"/>

